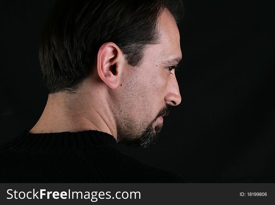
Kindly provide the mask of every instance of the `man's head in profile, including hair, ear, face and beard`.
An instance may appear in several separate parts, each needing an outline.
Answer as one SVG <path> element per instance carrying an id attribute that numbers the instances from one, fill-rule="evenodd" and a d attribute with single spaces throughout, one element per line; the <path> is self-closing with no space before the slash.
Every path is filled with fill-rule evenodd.
<path id="1" fill-rule="evenodd" d="M 73 95 L 93 80 L 117 141 L 154 144 L 162 116 L 181 101 L 173 69 L 182 57 L 181 11 L 180 1 L 58 0 L 39 51 L 48 93 Z"/>

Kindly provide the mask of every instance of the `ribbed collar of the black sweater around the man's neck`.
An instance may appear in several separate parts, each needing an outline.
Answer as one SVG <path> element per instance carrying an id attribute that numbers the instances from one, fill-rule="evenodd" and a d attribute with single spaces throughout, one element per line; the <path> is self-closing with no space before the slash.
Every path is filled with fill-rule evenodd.
<path id="1" fill-rule="evenodd" d="M 11 149 L 66 149 L 116 144 L 116 139 L 112 135 L 96 130 L 39 134 L 31 134 L 24 130 L 3 145 Z"/>

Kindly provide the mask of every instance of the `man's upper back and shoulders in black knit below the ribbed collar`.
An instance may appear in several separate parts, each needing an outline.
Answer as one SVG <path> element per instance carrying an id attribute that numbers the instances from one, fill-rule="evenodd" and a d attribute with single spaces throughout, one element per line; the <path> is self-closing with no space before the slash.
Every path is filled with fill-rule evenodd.
<path id="1" fill-rule="evenodd" d="M 113 145 L 45 150 L 17 149 L 6 143 L 1 148 L 2 182 L 185 182 L 180 175 L 144 164 Z"/>

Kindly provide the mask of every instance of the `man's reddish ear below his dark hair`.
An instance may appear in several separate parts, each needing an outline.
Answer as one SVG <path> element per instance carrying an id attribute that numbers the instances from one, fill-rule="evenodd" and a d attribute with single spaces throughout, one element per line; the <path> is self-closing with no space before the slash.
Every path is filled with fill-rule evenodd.
<path id="1" fill-rule="evenodd" d="M 119 85 L 123 61 L 122 51 L 115 43 L 107 42 L 100 47 L 97 57 L 98 75 L 112 89 Z"/>

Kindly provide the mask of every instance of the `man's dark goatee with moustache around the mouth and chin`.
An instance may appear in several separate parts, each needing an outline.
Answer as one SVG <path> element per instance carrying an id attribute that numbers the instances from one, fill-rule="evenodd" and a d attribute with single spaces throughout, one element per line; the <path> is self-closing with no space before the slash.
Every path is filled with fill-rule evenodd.
<path id="1" fill-rule="evenodd" d="M 121 137 L 123 136 L 123 130 L 117 130 L 118 132 L 118 138 L 122 138 L 119 140 L 119 143 L 127 144 L 130 146 L 139 146 L 143 148 L 147 148 L 153 144 L 156 144 L 158 140 L 159 133 L 163 127 L 163 123 L 157 124 L 155 128 L 153 127 L 154 122 L 158 120 L 160 116 L 168 116 L 171 110 L 171 105 L 168 103 L 165 103 L 164 107 L 159 111 L 157 117 L 148 124 L 146 129 L 143 131 L 143 133 L 139 136 L 136 136 L 134 138 L 129 137 Z M 132 134 L 133 135 L 133 134 Z M 120 137 L 119 137 L 120 136 Z"/>

